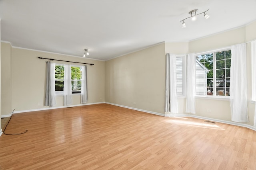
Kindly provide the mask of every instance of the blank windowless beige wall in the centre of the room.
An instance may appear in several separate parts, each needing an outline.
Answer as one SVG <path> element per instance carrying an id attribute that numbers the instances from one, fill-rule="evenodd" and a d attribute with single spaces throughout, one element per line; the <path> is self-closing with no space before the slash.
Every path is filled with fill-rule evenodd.
<path id="1" fill-rule="evenodd" d="M 105 101 L 164 114 L 165 44 L 105 63 Z"/>

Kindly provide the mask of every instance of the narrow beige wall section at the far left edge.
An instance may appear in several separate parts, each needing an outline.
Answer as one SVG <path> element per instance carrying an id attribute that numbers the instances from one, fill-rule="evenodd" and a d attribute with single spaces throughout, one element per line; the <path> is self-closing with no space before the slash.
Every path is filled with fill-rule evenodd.
<path id="1" fill-rule="evenodd" d="M 12 47 L 9 43 L 2 43 L 1 50 L 1 80 L 2 80 L 2 115 L 8 115 L 12 112 Z"/>

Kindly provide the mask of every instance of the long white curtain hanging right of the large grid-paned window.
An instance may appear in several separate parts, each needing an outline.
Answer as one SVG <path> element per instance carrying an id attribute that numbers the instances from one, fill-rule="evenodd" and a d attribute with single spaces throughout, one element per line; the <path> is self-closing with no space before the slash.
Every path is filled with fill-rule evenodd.
<path id="1" fill-rule="evenodd" d="M 232 121 L 248 122 L 246 44 L 232 45 L 230 67 L 230 108 Z"/>

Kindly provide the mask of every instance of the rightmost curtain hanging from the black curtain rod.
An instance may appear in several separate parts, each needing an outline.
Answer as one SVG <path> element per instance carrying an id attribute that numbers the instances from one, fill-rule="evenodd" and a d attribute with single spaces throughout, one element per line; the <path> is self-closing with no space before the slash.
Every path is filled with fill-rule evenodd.
<path id="1" fill-rule="evenodd" d="M 87 66 L 82 66 L 81 103 L 87 102 Z"/>

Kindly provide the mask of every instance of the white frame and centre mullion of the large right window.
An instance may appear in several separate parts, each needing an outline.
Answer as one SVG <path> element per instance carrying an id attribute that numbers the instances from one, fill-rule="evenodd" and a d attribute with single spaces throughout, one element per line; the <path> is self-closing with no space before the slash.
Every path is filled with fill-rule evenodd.
<path id="1" fill-rule="evenodd" d="M 205 54 L 213 53 L 213 80 L 214 80 L 214 82 L 213 82 L 214 95 L 207 95 L 207 94 L 206 95 L 198 95 L 198 94 L 196 94 L 196 98 L 219 98 L 219 99 L 221 99 L 221 98 L 222 99 L 229 99 L 230 98 L 230 96 L 218 96 L 218 95 L 216 95 L 217 94 L 216 93 L 216 53 L 222 52 L 222 51 L 229 51 L 229 50 L 231 51 L 231 46 L 230 47 L 225 47 L 225 48 L 222 48 L 222 49 L 216 49 L 216 50 L 212 50 L 212 51 L 206 51 L 206 52 L 195 54 L 195 59 L 196 59 L 196 56 L 198 56 L 198 55 L 205 55 Z M 231 59 L 232 59 L 232 54 L 231 54 Z M 226 69 L 226 65 L 225 65 L 224 69 Z M 225 78 L 226 78 L 226 74 L 225 74 Z M 206 84 L 206 86 L 207 86 L 207 84 Z M 207 91 L 207 89 L 206 89 L 206 91 Z"/>

